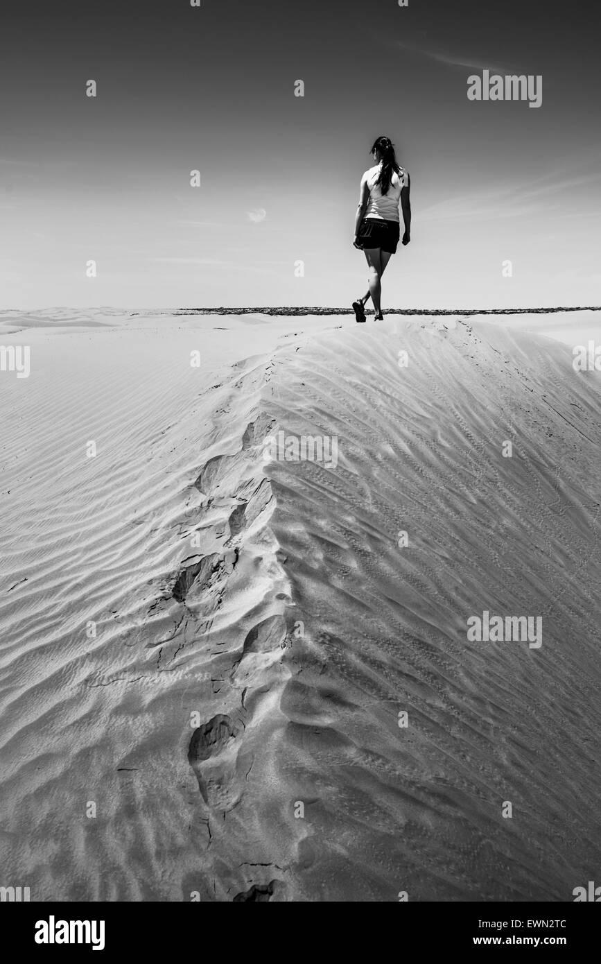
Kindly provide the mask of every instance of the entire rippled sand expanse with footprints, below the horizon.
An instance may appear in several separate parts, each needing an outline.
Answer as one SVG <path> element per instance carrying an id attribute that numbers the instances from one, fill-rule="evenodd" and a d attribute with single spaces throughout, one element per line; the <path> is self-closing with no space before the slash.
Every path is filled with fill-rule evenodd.
<path id="1" fill-rule="evenodd" d="M 42 314 L 0 319 L 31 345 L 28 379 L 0 374 L 5 883 L 595 879 L 599 374 L 471 318 Z M 266 459 L 306 436 L 335 465 Z M 469 641 L 484 611 L 540 617 L 542 645 Z"/>

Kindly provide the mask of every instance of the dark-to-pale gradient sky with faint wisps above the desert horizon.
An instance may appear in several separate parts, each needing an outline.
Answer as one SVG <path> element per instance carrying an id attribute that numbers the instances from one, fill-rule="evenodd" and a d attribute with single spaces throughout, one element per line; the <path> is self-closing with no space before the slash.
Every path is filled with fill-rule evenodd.
<path id="1" fill-rule="evenodd" d="M 598 305 L 597 20 L 592 0 L 3 0 L 0 308 L 350 304 L 382 134 L 413 220 L 384 308 Z M 469 100 L 484 69 L 540 75 L 540 106 Z"/>

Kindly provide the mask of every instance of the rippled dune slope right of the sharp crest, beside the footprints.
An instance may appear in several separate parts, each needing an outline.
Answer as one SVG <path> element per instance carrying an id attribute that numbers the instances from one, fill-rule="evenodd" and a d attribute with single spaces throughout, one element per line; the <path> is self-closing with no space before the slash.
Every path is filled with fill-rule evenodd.
<path id="1" fill-rule="evenodd" d="M 302 630 L 272 735 L 283 823 L 257 829 L 293 840 L 305 808 L 282 898 L 569 899 L 599 856 L 598 381 L 500 330 L 404 337 L 403 370 L 391 324 L 280 349 L 264 389 L 272 435 L 333 433 L 340 461 L 267 470 Z M 483 609 L 540 614 L 540 653 L 468 643 Z"/>

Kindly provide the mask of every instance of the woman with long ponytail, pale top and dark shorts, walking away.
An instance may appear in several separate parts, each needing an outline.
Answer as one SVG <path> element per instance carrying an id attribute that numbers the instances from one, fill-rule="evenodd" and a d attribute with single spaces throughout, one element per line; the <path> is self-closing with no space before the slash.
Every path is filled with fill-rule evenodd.
<path id="1" fill-rule="evenodd" d="M 394 145 L 389 138 L 379 137 L 371 152 L 376 165 L 361 177 L 361 193 L 354 222 L 353 245 L 364 252 L 370 273 L 369 291 L 353 302 L 357 321 L 365 321 L 364 305 L 370 297 L 374 303 L 375 320 L 381 321 L 383 318 L 379 305 L 380 279 L 399 243 L 399 200 L 405 222 L 404 245 L 410 241 L 411 229 L 408 171 L 397 164 Z"/>

